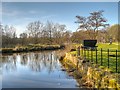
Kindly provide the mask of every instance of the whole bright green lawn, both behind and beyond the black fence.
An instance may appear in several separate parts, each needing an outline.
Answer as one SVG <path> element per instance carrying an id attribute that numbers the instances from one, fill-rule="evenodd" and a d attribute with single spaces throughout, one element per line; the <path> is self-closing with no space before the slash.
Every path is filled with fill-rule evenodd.
<path id="1" fill-rule="evenodd" d="M 108 49 L 109 49 L 109 55 L 116 56 L 116 50 L 118 51 L 117 57 L 117 70 L 120 72 L 120 45 L 118 43 L 113 43 L 109 45 L 109 43 L 98 43 L 97 44 L 97 64 L 101 65 L 101 48 L 102 48 L 102 66 L 108 67 Z M 92 56 L 93 53 L 93 56 Z M 76 55 L 77 51 L 71 52 L 72 55 Z M 80 55 L 84 57 L 84 52 L 80 50 Z M 116 57 L 109 56 L 109 68 L 111 71 L 116 72 Z M 96 51 L 86 51 L 86 59 L 90 60 L 91 62 L 96 63 Z"/>

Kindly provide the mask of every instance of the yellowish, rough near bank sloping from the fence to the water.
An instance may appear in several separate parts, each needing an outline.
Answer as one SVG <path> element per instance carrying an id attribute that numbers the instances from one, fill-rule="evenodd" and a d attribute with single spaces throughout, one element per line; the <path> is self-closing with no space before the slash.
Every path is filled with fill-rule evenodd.
<path id="1" fill-rule="evenodd" d="M 85 63 L 71 53 L 66 53 L 61 63 L 65 68 L 63 70 L 77 80 L 79 87 L 120 89 L 119 74 L 111 73 L 108 68 L 90 62 Z"/>

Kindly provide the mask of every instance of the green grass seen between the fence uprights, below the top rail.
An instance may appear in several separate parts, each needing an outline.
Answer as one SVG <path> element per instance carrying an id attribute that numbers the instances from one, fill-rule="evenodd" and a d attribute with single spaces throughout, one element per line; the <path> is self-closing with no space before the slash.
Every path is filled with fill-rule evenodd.
<path id="1" fill-rule="evenodd" d="M 92 53 L 93 53 L 93 57 L 91 55 L 91 51 L 89 52 L 89 54 L 88 54 L 88 51 L 86 51 L 86 58 L 88 60 L 90 60 L 91 62 L 93 61 L 94 63 L 96 63 L 96 51 L 92 51 Z M 115 52 L 109 52 L 109 54 L 115 55 Z M 118 69 L 117 70 L 120 70 L 120 59 L 118 58 L 117 60 L 118 60 L 118 62 L 117 62 Z M 99 64 L 99 65 L 102 64 L 102 66 L 108 67 L 108 52 L 107 51 L 102 52 L 102 61 L 101 61 L 101 51 L 99 51 L 99 50 L 97 51 L 97 64 Z M 116 72 L 116 57 L 109 56 L 109 68 L 113 72 Z"/>

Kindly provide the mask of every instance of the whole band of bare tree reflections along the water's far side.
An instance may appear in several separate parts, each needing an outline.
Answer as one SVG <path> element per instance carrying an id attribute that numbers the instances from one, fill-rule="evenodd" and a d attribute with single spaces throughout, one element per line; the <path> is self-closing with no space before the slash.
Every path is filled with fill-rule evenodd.
<path id="1" fill-rule="evenodd" d="M 15 70 L 17 66 L 27 66 L 32 71 L 37 72 L 46 70 L 48 73 L 54 72 L 55 69 L 59 68 L 56 51 L 7 55 L 2 57 L 2 62 L 2 67 L 9 71 Z"/>

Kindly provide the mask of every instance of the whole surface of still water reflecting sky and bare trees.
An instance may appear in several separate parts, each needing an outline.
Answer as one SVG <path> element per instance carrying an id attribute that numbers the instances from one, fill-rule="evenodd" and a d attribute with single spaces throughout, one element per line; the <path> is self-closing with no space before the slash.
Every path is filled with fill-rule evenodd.
<path id="1" fill-rule="evenodd" d="M 75 88 L 76 80 L 62 71 L 57 51 L 2 56 L 3 88 Z"/>

